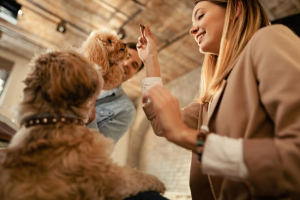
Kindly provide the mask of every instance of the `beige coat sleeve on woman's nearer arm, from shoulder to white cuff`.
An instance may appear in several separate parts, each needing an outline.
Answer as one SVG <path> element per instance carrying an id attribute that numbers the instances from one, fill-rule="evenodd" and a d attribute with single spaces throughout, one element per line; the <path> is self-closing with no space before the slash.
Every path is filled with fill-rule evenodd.
<path id="1" fill-rule="evenodd" d="M 300 195 L 300 40 L 282 25 L 264 28 L 252 38 L 251 62 L 261 103 L 274 123 L 274 138 L 244 140 L 247 180 L 256 196 L 289 195 L 297 199 Z"/>

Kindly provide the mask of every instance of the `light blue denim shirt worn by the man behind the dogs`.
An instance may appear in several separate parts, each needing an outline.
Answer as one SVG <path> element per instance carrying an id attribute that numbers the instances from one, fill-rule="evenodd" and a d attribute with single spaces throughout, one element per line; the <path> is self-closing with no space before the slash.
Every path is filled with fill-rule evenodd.
<path id="1" fill-rule="evenodd" d="M 103 91 L 96 102 L 96 119 L 87 127 L 97 128 L 115 144 L 132 124 L 136 112 L 133 102 L 125 94 L 122 86 Z"/>

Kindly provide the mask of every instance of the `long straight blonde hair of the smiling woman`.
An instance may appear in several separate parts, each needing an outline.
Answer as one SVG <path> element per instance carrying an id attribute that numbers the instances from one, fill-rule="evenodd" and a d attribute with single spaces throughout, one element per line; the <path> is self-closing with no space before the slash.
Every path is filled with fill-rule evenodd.
<path id="1" fill-rule="evenodd" d="M 220 53 L 206 54 L 202 65 L 200 97 L 197 101 L 205 103 L 219 89 L 254 33 L 270 23 L 258 0 L 196 0 L 195 5 L 201 1 L 209 1 L 226 9 Z M 241 10 L 236 18 L 238 3 Z"/>

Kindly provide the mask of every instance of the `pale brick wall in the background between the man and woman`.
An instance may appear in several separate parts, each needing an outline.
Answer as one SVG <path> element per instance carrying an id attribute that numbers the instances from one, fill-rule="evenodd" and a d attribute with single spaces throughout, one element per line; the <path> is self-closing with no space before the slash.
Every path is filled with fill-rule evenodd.
<path id="1" fill-rule="evenodd" d="M 166 87 L 185 107 L 198 94 L 200 68 L 170 82 Z M 130 130 L 128 165 L 156 175 L 167 187 L 170 199 L 190 199 L 189 170 L 191 152 L 165 138 L 157 137 L 137 102 L 137 115 Z"/>

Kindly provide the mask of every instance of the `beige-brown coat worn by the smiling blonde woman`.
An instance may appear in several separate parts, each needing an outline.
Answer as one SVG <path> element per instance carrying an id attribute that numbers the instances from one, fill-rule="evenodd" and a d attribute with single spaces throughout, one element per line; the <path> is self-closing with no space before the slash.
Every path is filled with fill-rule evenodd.
<path id="1" fill-rule="evenodd" d="M 211 177 L 210 186 L 193 155 L 194 200 L 213 199 L 212 193 L 220 200 L 300 199 L 300 39 L 291 30 L 282 25 L 259 30 L 223 80 L 209 113 L 207 108 L 198 103 L 186 107 L 184 122 L 243 138 L 249 175 L 244 182 Z M 151 103 L 144 111 L 154 132 L 162 135 Z"/>

